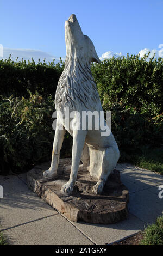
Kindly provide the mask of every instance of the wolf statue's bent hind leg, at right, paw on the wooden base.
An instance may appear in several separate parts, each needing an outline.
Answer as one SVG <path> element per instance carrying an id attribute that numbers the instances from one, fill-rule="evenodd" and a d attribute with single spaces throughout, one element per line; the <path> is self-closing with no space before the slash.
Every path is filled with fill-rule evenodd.
<path id="1" fill-rule="evenodd" d="M 120 157 L 120 152 L 118 148 L 109 147 L 104 149 L 102 154 L 102 172 L 99 176 L 99 180 L 95 186 L 93 186 L 92 192 L 95 194 L 101 194 L 105 185 L 106 180 L 108 179 L 109 174 L 112 169 L 115 168 L 118 159 Z"/>

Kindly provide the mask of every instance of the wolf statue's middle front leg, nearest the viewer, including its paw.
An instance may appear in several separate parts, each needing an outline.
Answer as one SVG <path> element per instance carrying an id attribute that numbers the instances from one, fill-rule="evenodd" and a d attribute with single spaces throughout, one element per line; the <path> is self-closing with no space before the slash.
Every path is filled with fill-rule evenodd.
<path id="1" fill-rule="evenodd" d="M 73 146 L 72 146 L 72 166 L 69 181 L 61 188 L 62 192 L 70 194 L 73 191 L 74 184 L 77 179 L 80 159 L 84 147 L 87 131 L 73 131 Z"/>

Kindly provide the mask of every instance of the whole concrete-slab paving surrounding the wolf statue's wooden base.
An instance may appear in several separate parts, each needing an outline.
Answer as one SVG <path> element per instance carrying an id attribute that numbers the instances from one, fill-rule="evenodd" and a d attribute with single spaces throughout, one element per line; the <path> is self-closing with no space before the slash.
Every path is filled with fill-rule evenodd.
<path id="1" fill-rule="evenodd" d="M 0 231 L 12 245 L 109 245 L 143 230 L 163 213 L 163 176 L 118 164 L 129 189 L 127 220 L 115 224 L 71 222 L 43 202 L 26 185 L 26 174 L 0 176 Z M 163 194 L 163 193 L 162 193 Z"/>

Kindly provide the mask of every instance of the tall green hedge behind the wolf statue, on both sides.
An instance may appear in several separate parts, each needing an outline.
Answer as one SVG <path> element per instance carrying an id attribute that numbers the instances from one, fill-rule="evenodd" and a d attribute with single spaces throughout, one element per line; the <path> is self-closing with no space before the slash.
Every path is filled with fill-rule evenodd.
<path id="1" fill-rule="evenodd" d="M 163 61 L 147 62 L 147 57 L 113 57 L 92 65 L 103 109 L 111 111 L 122 161 L 163 145 Z M 51 160 L 55 89 L 63 69 L 61 61 L 0 60 L 0 172 Z M 61 156 L 71 156 L 71 148 L 66 134 Z"/>

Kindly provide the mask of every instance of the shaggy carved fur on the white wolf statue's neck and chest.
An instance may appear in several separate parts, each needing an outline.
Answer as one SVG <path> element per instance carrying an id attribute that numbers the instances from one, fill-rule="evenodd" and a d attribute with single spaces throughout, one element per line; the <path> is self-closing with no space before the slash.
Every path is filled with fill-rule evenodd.
<path id="1" fill-rule="evenodd" d="M 99 95 L 91 73 L 91 65 L 86 58 L 66 56 L 65 68 L 61 74 L 55 93 L 55 108 L 80 109 L 96 108 Z"/>

